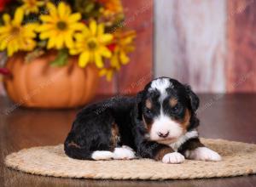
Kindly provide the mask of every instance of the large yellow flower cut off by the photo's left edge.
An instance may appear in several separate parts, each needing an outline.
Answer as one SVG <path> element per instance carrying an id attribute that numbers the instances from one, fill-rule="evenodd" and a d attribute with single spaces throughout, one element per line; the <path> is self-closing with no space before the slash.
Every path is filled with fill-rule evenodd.
<path id="1" fill-rule="evenodd" d="M 33 40 L 37 35 L 34 32 L 38 24 L 28 23 L 22 26 L 24 12 L 18 8 L 15 12 L 14 20 L 11 20 L 9 14 L 3 14 L 3 26 L 0 26 L 0 50 L 7 49 L 8 56 L 11 56 L 18 50 L 30 51 L 36 46 Z"/>

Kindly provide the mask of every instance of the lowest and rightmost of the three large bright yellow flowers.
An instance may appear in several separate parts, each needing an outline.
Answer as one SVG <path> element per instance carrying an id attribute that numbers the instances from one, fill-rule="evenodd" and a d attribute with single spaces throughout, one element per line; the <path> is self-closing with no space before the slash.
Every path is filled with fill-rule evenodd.
<path id="1" fill-rule="evenodd" d="M 89 28 L 85 26 L 82 33 L 75 35 L 75 48 L 70 54 L 79 54 L 79 66 L 85 67 L 89 62 L 95 62 L 96 66 L 104 66 L 102 57 L 110 58 L 111 51 L 106 47 L 112 41 L 113 35 L 104 33 L 104 25 L 97 26 L 95 20 L 91 20 Z"/>

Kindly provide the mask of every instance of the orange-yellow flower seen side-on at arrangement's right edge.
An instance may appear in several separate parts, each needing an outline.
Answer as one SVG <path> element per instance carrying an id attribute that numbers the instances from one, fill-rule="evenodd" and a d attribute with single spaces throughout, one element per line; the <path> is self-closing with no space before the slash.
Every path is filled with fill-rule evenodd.
<path id="1" fill-rule="evenodd" d="M 114 34 L 115 45 L 110 65 L 119 70 L 120 65 L 126 65 L 130 61 L 128 53 L 134 50 L 133 40 L 136 37 L 135 31 L 120 32 Z"/>

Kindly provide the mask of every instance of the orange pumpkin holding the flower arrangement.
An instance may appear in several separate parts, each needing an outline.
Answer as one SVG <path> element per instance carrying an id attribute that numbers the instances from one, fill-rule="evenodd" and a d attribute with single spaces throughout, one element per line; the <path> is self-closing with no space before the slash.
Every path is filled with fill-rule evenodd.
<path id="1" fill-rule="evenodd" d="M 49 52 L 30 63 L 24 53 L 9 58 L 6 67 L 10 77 L 3 79 L 9 98 L 17 105 L 40 108 L 71 108 L 85 105 L 96 94 L 99 80 L 95 65 L 78 66 L 78 58 L 67 65 L 54 67 L 50 62 L 56 53 Z"/>

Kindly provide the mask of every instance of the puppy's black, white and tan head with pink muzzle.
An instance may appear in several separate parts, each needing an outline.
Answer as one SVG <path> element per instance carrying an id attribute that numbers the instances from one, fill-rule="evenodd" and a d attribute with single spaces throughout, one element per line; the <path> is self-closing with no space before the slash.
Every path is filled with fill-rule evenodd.
<path id="1" fill-rule="evenodd" d="M 149 139 L 161 144 L 171 144 L 187 132 L 198 106 L 189 86 L 168 77 L 154 79 L 137 95 L 137 116 Z"/>

